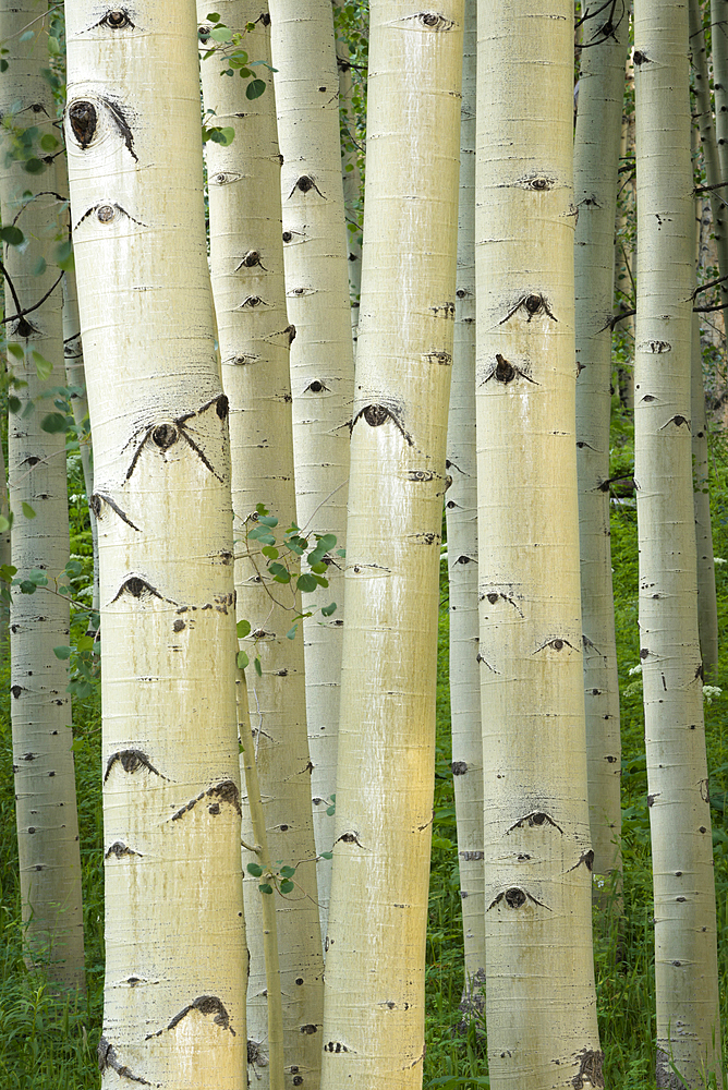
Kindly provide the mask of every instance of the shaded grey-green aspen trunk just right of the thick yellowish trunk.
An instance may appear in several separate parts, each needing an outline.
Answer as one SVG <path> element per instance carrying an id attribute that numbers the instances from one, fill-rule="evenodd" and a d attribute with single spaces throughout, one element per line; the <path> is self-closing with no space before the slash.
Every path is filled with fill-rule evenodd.
<path id="1" fill-rule="evenodd" d="M 621 869 L 621 742 L 609 542 L 615 217 L 629 15 L 584 24 L 574 141 L 577 470 L 589 804 L 595 876 Z"/>

